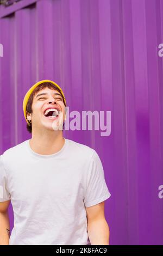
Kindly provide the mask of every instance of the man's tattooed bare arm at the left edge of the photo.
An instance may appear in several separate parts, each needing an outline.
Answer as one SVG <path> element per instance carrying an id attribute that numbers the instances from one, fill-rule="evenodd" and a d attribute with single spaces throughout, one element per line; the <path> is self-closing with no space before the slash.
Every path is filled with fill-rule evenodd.
<path id="1" fill-rule="evenodd" d="M 0 245 L 9 245 L 10 223 L 8 207 L 10 200 L 0 202 Z"/>

